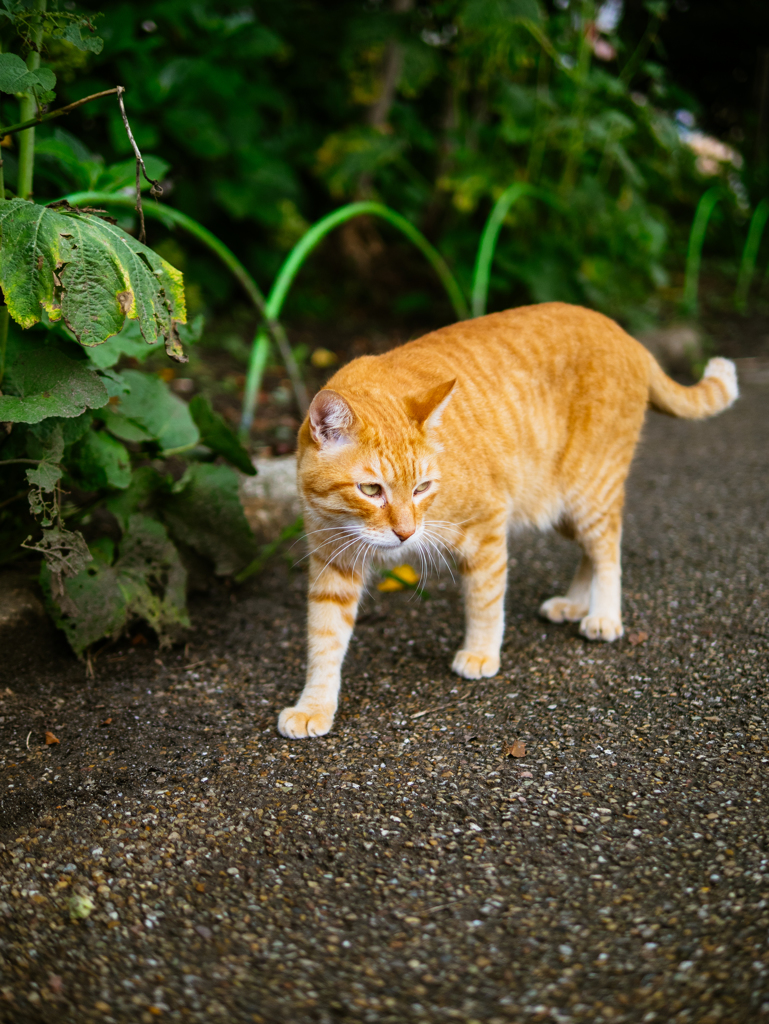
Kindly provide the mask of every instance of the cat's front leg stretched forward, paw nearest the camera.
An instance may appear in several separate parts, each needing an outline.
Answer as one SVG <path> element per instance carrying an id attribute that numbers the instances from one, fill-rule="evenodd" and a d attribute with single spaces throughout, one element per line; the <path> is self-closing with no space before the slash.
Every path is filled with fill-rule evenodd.
<path id="1" fill-rule="evenodd" d="M 342 662 L 352 635 L 364 575 L 310 556 L 307 609 L 307 682 L 277 731 L 290 739 L 324 736 L 334 723 Z"/>

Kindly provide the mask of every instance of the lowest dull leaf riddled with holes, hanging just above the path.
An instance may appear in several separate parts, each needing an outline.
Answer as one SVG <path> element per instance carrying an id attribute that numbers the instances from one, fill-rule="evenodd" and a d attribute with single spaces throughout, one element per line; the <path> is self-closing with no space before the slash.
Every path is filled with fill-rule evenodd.
<path id="1" fill-rule="evenodd" d="M 65 600 L 52 595 L 47 567 L 41 572 L 53 618 L 78 655 L 101 637 L 120 635 L 134 618 L 147 622 L 161 645 L 189 625 L 186 571 L 157 519 L 130 517 L 114 565 L 98 557 L 101 552 L 92 553 L 97 557 L 65 581 Z"/>

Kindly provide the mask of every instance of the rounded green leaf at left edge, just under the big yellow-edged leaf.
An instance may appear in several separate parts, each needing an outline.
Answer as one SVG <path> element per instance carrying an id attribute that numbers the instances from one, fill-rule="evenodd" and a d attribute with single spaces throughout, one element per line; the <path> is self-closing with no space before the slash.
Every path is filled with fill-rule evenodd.
<path id="1" fill-rule="evenodd" d="M 87 362 L 38 342 L 16 356 L 7 380 L 16 394 L 0 396 L 0 421 L 10 423 L 80 416 L 86 409 L 100 409 L 109 399 L 104 385 Z"/>

